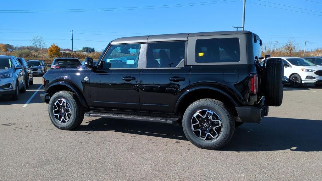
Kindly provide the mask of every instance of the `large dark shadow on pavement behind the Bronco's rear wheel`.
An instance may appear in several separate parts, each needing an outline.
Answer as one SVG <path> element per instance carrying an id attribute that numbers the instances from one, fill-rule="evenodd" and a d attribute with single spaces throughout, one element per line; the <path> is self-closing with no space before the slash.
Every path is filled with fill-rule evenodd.
<path id="1" fill-rule="evenodd" d="M 236 128 L 223 151 L 322 151 L 322 120 L 265 117 Z"/>

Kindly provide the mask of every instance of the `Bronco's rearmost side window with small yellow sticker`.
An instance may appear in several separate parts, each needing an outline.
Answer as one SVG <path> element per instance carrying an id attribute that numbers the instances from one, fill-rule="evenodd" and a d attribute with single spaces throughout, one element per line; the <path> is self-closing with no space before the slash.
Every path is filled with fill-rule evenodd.
<path id="1" fill-rule="evenodd" d="M 239 62 L 238 38 L 200 39 L 196 41 L 197 63 Z"/>

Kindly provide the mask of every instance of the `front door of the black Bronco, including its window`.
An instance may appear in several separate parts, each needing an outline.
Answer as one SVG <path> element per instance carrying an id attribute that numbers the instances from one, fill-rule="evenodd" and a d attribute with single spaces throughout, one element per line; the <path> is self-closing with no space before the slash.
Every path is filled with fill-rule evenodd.
<path id="1" fill-rule="evenodd" d="M 137 68 L 141 44 L 110 45 L 90 75 L 90 97 L 94 108 L 139 110 Z"/>

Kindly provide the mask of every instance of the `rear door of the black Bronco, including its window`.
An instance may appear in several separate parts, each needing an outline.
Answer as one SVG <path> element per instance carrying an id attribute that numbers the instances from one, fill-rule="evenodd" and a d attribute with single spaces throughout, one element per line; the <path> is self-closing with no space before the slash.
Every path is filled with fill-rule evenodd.
<path id="1" fill-rule="evenodd" d="M 186 41 L 147 44 L 146 68 L 140 74 L 142 111 L 173 113 L 175 103 L 189 85 L 185 66 Z"/>

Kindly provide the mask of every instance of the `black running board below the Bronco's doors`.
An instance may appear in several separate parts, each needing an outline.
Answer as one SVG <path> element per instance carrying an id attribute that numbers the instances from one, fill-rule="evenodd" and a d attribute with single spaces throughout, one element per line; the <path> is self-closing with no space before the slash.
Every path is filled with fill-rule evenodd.
<path id="1" fill-rule="evenodd" d="M 137 121 L 149 121 L 158 123 L 168 123 L 173 125 L 178 125 L 178 118 L 160 118 L 160 117 L 147 117 L 147 116 L 136 116 L 136 115 L 124 115 L 124 114 L 110 114 L 102 112 L 86 112 L 85 116 L 100 117 L 100 118 L 110 118 L 110 119 L 127 119 L 127 120 L 137 120 Z"/>

